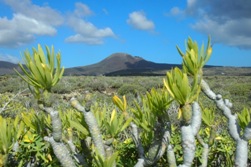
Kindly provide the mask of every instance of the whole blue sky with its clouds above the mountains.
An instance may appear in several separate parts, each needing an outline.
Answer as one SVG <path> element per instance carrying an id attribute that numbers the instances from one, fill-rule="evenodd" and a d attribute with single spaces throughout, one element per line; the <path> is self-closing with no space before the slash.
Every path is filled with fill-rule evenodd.
<path id="1" fill-rule="evenodd" d="M 64 67 L 123 52 L 181 63 L 176 45 L 212 38 L 208 65 L 251 66 L 251 1 L 0 0 L 0 61 L 20 62 L 40 43 L 54 45 Z"/>

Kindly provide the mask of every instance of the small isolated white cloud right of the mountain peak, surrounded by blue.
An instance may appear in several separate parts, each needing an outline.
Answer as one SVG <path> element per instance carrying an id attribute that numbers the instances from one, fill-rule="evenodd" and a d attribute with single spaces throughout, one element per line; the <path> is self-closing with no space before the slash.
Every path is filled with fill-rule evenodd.
<path id="1" fill-rule="evenodd" d="M 139 30 L 153 30 L 154 23 L 149 20 L 142 11 L 135 11 L 129 14 L 127 23 Z"/>

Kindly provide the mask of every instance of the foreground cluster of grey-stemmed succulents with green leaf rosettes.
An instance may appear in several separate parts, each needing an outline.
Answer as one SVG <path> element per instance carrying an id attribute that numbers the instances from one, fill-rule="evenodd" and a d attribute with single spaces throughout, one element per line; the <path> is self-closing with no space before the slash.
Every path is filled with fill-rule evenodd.
<path id="1" fill-rule="evenodd" d="M 233 114 L 232 103 L 203 79 L 210 37 L 206 49 L 191 38 L 184 53 L 177 47 L 182 69 L 167 72 L 163 87 L 143 94 L 133 89 L 130 103 L 115 93 L 109 95 L 113 104 L 102 104 L 89 92 L 55 106 L 50 96 L 64 68 L 60 53 L 45 49 L 25 51 L 19 64 L 24 75 L 16 71 L 38 107 L 14 119 L 2 116 L 10 101 L 0 108 L 0 166 L 248 166 L 250 109 Z M 203 106 L 201 93 L 214 108 Z M 229 134 L 218 132 L 223 124 Z"/>

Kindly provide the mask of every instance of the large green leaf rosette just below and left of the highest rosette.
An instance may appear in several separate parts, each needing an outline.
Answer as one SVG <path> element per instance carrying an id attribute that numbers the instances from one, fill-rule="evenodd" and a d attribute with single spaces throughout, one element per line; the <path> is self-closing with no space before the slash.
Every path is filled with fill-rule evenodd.
<path id="1" fill-rule="evenodd" d="M 169 94 L 180 104 L 179 115 L 186 123 L 191 119 L 191 103 L 197 100 L 200 93 L 200 85 L 194 79 L 190 84 L 187 73 L 179 68 L 174 68 L 167 72 L 164 85 Z"/>

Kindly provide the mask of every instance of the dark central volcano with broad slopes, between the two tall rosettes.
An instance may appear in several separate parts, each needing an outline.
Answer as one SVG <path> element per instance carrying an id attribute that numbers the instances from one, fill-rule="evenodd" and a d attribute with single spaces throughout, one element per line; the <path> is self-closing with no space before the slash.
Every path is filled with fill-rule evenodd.
<path id="1" fill-rule="evenodd" d="M 169 70 L 174 66 L 179 65 L 154 63 L 127 53 L 114 53 L 96 64 L 68 68 L 65 75 L 144 75 L 144 73 Z"/>

